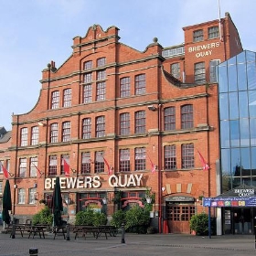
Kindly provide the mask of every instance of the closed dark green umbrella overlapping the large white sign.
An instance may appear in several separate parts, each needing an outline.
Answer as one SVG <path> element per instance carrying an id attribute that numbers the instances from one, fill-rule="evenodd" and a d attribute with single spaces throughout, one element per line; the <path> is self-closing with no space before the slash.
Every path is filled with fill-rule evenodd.
<path id="1" fill-rule="evenodd" d="M 56 183 L 53 190 L 53 196 L 51 199 L 51 209 L 53 213 L 54 226 L 61 226 L 61 211 L 63 211 L 62 197 L 60 192 L 59 176 L 56 177 Z"/>

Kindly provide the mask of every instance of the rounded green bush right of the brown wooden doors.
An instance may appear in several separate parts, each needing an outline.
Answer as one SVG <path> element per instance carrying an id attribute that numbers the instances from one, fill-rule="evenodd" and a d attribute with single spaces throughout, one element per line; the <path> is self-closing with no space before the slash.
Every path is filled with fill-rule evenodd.
<path id="1" fill-rule="evenodd" d="M 211 222 L 211 234 L 215 234 L 216 231 L 216 220 L 212 219 Z M 189 221 L 190 229 L 195 230 L 197 235 L 208 235 L 208 215 L 206 213 L 199 213 Z"/>

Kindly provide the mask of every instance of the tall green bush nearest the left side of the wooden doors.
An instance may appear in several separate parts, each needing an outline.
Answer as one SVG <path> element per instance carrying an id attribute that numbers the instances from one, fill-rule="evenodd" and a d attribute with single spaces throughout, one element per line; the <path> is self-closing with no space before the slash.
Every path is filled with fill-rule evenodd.
<path id="1" fill-rule="evenodd" d="M 146 233 L 150 223 L 149 210 L 138 205 L 125 212 L 125 229 L 129 232 Z"/>

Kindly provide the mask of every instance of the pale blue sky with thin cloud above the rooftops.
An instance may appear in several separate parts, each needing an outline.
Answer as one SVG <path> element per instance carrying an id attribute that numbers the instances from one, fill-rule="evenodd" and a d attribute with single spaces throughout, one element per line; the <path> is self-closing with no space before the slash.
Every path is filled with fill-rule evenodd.
<path id="1" fill-rule="evenodd" d="M 0 126 L 12 113 L 30 112 L 41 89 L 41 71 L 72 53 L 73 37 L 99 24 L 119 27 L 120 42 L 143 51 L 157 37 L 163 47 L 183 43 L 182 27 L 229 12 L 244 49 L 256 51 L 255 0 L 0 0 Z"/>

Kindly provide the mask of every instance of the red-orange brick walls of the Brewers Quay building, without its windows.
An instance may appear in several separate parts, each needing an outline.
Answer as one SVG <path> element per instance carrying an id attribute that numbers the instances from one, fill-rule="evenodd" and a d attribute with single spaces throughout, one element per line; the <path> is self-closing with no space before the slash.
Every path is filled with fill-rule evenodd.
<path id="1" fill-rule="evenodd" d="M 109 27 L 105 31 L 98 25 L 90 27 L 85 37 L 73 38 L 73 52 L 59 68 L 52 61 L 47 69 L 42 71 L 42 89 L 36 106 L 25 114 L 13 115 L 13 128 L 11 144 L 0 151 L 0 160 L 10 160 L 10 172 L 15 176 L 10 177 L 12 197 L 14 201 L 13 213 L 20 218 L 29 218 L 43 206 L 28 203 L 28 189 L 37 184 L 37 199 L 48 197 L 52 193 L 52 187 L 46 186 L 54 176 L 48 176 L 49 156 L 57 156 L 57 175 L 63 180 L 62 192 L 69 192 L 74 204 L 69 208 L 71 219 L 80 210 L 82 195 L 98 193 L 100 202 L 102 197 L 107 197 L 107 213 L 109 216 L 116 209 L 112 203 L 112 197 L 116 191 L 123 191 L 130 195 L 123 198 L 124 201 L 138 200 L 146 188 L 155 193 L 155 223 L 161 232 L 165 219 L 165 205 L 173 198 L 193 198 L 196 211 L 202 210 L 198 197 L 214 197 L 217 195 L 217 161 L 219 160 L 219 113 L 218 113 L 218 87 L 216 83 L 209 81 L 209 61 L 219 59 L 223 61 L 234 56 L 242 50 L 240 37 L 236 27 L 232 23 L 229 14 L 221 19 L 221 35 L 208 39 L 208 27 L 219 27 L 219 20 L 184 27 L 185 53 L 178 56 L 163 57 L 163 48 L 154 39 L 144 52 L 133 49 L 119 42 L 117 27 Z M 193 31 L 202 29 L 203 41 L 193 42 Z M 176 48 L 176 47 L 172 47 Z M 97 67 L 97 59 L 105 58 L 106 63 Z M 91 69 L 84 69 L 86 61 L 91 61 Z M 206 82 L 197 84 L 194 80 L 194 67 L 197 62 L 205 62 Z M 171 74 L 171 65 L 180 64 L 180 77 L 175 78 Z M 103 80 L 97 79 L 98 71 L 105 71 Z M 84 77 L 91 73 L 91 102 L 84 103 Z M 145 91 L 136 92 L 136 78 L 144 75 Z M 130 79 L 130 96 L 121 97 L 120 87 L 123 78 Z M 97 84 L 105 83 L 104 99 L 97 101 Z M 71 106 L 63 107 L 64 90 L 71 91 Z M 59 107 L 52 109 L 52 95 L 59 91 Z M 101 90 L 100 90 L 101 91 Z M 103 90 L 104 91 L 104 90 Z M 102 91 L 101 91 L 102 93 Z M 185 105 L 193 106 L 193 127 L 184 129 L 181 126 L 181 108 Z M 152 109 L 153 107 L 153 109 Z M 165 130 L 165 109 L 175 107 L 174 130 Z M 145 114 L 144 133 L 135 133 L 135 114 L 143 111 Z M 130 114 L 130 133 L 121 135 L 120 114 Z M 105 118 L 104 136 L 96 136 L 97 117 Z M 82 138 L 82 122 L 84 118 L 91 118 L 91 138 Z M 70 139 L 62 141 L 62 124 L 70 123 Z M 51 127 L 53 123 L 59 125 L 58 141 L 51 143 Z M 31 145 L 31 129 L 38 127 L 38 143 Z M 27 146 L 21 146 L 21 129 L 27 128 Z M 182 145 L 193 144 L 194 166 L 185 168 L 182 166 Z M 176 146 L 176 168 L 165 168 L 165 146 Z M 145 149 L 145 169 L 135 171 L 136 148 Z M 120 150 L 130 150 L 130 172 L 120 172 Z M 208 162 L 209 170 L 203 171 L 197 150 Z M 112 166 L 112 174 L 108 175 L 107 166 L 104 172 L 95 174 L 94 167 L 97 159 L 95 152 L 103 152 L 109 165 Z M 80 174 L 81 154 L 89 152 L 91 155 L 91 173 Z M 69 155 L 69 165 L 73 169 L 70 177 L 75 183 L 82 180 L 80 186 L 66 185 L 66 177 L 60 175 L 62 155 Z M 29 159 L 37 157 L 37 168 L 43 173 L 41 177 L 29 176 Z M 27 173 L 25 177 L 19 177 L 20 158 L 27 159 Z M 151 172 L 151 162 L 156 165 L 156 172 Z M 139 185 L 133 179 L 135 175 L 142 175 Z M 93 187 L 90 180 L 99 176 L 99 187 Z M 110 186 L 115 178 L 125 184 L 125 177 L 130 180 L 130 186 Z M 4 180 L 4 176 L 2 177 Z M 87 187 L 83 187 L 88 182 Z M 111 180 L 111 181 L 110 181 Z M 14 188 L 16 184 L 16 188 Z M 91 187 L 90 187 L 91 186 Z M 25 203 L 18 203 L 18 189 L 25 188 Z M 133 192 L 137 195 L 133 197 Z M 125 200 L 124 200 L 125 199 Z M 179 203 L 184 203 L 179 201 Z M 132 203 L 132 201 L 130 201 Z M 85 204 L 86 201 L 85 201 Z M 166 206 L 167 207 L 167 206 Z M 158 215 L 158 216 L 157 216 Z M 173 232 L 189 232 L 187 230 L 173 229 Z"/>

